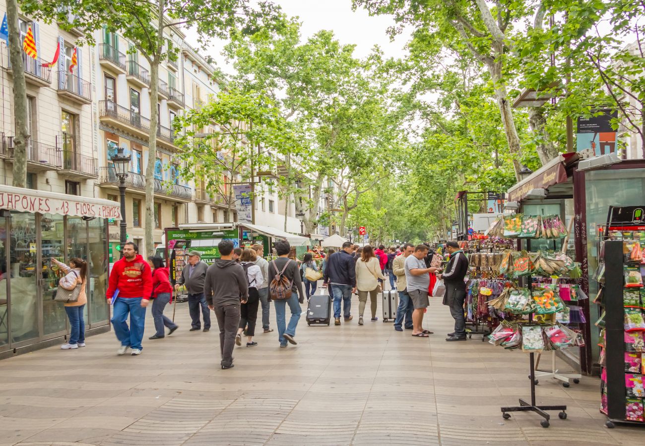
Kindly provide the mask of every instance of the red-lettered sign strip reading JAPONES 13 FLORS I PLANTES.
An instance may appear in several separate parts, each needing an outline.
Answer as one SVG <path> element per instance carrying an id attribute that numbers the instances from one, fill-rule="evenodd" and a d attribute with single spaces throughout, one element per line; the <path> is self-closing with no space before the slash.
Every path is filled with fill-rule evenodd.
<path id="1" fill-rule="evenodd" d="M 83 197 L 79 197 L 79 200 L 72 200 L 47 195 L 39 196 L 0 191 L 0 209 L 121 220 L 121 206 L 119 204 L 111 206 L 109 204 L 93 203 L 91 200 L 83 200 Z"/>

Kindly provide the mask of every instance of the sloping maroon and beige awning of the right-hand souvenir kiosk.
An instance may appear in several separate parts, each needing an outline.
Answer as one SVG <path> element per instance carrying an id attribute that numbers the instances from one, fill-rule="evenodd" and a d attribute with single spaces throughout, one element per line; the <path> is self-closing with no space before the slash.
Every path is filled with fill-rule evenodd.
<path id="1" fill-rule="evenodd" d="M 582 152 L 563 153 L 550 160 L 539 170 L 533 172 L 530 177 L 517 182 L 515 186 L 508 189 L 506 201 L 520 202 L 534 189 L 548 189 L 555 184 L 566 183 L 573 164 L 586 157 Z"/>

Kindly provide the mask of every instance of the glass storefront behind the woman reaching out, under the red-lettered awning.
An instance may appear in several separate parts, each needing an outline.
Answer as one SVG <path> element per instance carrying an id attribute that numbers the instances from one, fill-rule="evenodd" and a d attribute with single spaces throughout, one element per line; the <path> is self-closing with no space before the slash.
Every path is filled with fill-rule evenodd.
<path id="1" fill-rule="evenodd" d="M 107 249 L 105 218 L 18 211 L 0 217 L 0 352 L 69 333 L 64 306 L 54 301 L 61 272 L 52 258 L 88 262 L 85 326 L 107 325 Z"/>

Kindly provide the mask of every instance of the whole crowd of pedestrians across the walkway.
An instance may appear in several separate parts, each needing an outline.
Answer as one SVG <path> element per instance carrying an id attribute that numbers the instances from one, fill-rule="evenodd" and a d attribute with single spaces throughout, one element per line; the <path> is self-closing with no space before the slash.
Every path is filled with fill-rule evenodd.
<path id="1" fill-rule="evenodd" d="M 430 304 L 436 280 L 443 280 L 445 293 L 443 304 L 450 309 L 455 320 L 453 333 L 446 341 L 466 340 L 464 300 L 468 271 L 468 258 L 459 249 L 457 242 L 448 242 L 447 262 L 437 255 L 428 244 L 413 246 L 406 243 L 397 247 L 357 246 L 345 242 L 339 251 L 329 249 L 319 268 L 312 253 L 306 253 L 299 263 L 289 258 L 292 251 L 286 240 L 275 242 L 277 256 L 270 262 L 263 258 L 262 245 L 246 249 L 236 248 L 230 240 L 218 244 L 220 258 L 210 266 L 201 260 L 199 251 L 190 251 L 186 266 L 177 276 L 175 290 L 185 286 L 188 291 L 188 312 L 192 320 L 190 331 L 210 330 L 210 311 L 215 313 L 219 326 L 221 367 L 233 367 L 235 345 L 255 347 L 253 340 L 259 307 L 264 333 L 271 333 L 270 302 L 273 301 L 275 321 L 280 347 L 297 345 L 295 333 L 301 318 L 301 305 L 305 298 L 315 295 L 317 282 L 323 279 L 321 288 L 327 289 L 332 298 L 334 325 L 353 320 L 352 295 L 359 300 L 358 325 L 364 325 L 364 311 L 370 298 L 372 322 L 378 320 L 377 302 L 379 293 L 385 290 L 389 278 L 389 290 L 395 290 L 399 304 L 394 318 L 394 329 L 412 330 L 412 336 L 428 338 L 432 331 L 423 328 L 423 319 Z M 445 269 L 442 264 L 446 263 Z M 65 265 L 52 258 L 52 264 L 63 271 L 59 287 L 64 290 L 80 290 L 74 302 L 64 304 L 70 320 L 71 333 L 62 349 L 84 347 L 83 309 L 87 302 L 84 293 L 87 264 L 81 258 L 70 259 Z M 320 271 L 319 271 L 320 270 Z M 304 285 L 304 291 L 303 291 Z M 164 315 L 164 309 L 172 304 L 170 271 L 163 258 L 151 256 L 147 261 L 138 253 L 138 247 L 128 242 L 123 247 L 123 257 L 115 262 L 110 273 L 106 298 L 113 305 L 111 322 L 121 344 L 117 354 L 130 350 L 133 356 L 141 354 L 146 307 L 152 300 L 152 317 L 155 334 L 150 340 L 164 338 L 174 333 L 179 325 Z M 287 321 L 287 308 L 290 312 Z M 128 325 L 128 317 L 130 324 Z M 168 333 L 166 334 L 166 329 Z"/>

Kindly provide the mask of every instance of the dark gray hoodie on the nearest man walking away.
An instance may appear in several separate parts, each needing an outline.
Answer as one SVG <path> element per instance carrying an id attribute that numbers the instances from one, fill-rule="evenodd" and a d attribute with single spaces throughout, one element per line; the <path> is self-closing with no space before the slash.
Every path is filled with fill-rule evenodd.
<path id="1" fill-rule="evenodd" d="M 206 270 L 204 296 L 208 305 L 239 305 L 248 299 L 248 281 L 244 268 L 235 260 L 215 260 Z"/>

